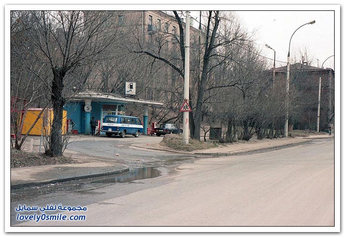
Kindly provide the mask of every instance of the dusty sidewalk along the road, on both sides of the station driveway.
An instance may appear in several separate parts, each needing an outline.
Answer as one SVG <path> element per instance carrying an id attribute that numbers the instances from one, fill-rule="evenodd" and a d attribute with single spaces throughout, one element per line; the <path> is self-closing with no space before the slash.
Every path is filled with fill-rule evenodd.
<path id="1" fill-rule="evenodd" d="M 178 152 L 162 147 L 158 142 L 147 146 L 146 143 L 132 144 L 135 149 L 148 149 L 156 151 L 170 151 L 182 154 L 195 154 L 200 156 L 230 156 L 256 152 L 260 150 L 278 149 L 287 146 L 306 144 L 315 138 L 334 138 L 334 135 L 311 135 L 308 137 L 286 137 L 276 139 L 251 139 L 234 143 L 220 144 L 216 148 L 197 150 L 194 152 Z M 65 154 L 66 155 L 66 154 Z M 98 161 L 97 158 L 81 157 L 77 153 L 68 155 L 76 158 L 79 163 L 65 165 L 50 165 L 39 167 L 24 167 L 11 169 L 11 189 L 54 184 L 70 180 L 99 177 L 111 174 L 128 172 L 126 164 L 108 164 Z"/>

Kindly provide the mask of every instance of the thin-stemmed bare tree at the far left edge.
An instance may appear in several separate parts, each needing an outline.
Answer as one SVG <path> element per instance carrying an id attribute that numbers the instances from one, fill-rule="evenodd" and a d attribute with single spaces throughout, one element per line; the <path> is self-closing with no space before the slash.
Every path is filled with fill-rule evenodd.
<path id="1" fill-rule="evenodd" d="M 47 77 L 48 70 L 44 67 L 44 64 L 36 60 L 33 47 L 27 43 L 30 35 L 27 34 L 27 28 L 20 19 L 31 21 L 32 15 L 26 11 L 11 12 L 10 117 L 11 133 L 15 135 L 12 147 L 18 150 L 22 149 L 27 136 L 39 119 L 37 118 L 27 134 L 22 136 L 22 128 L 28 108 L 36 106 L 46 107 L 49 105 L 45 92 L 45 78 Z M 38 74 L 33 73 L 33 71 L 38 72 Z"/>

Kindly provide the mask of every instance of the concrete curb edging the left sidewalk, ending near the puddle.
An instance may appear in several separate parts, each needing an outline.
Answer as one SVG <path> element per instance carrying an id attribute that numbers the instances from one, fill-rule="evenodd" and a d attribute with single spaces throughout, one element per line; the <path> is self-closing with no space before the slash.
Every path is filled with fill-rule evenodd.
<path id="1" fill-rule="evenodd" d="M 50 179 L 50 180 L 37 181 L 37 182 L 31 182 L 31 183 L 13 184 L 11 185 L 11 189 L 27 188 L 27 187 L 43 185 L 43 184 L 62 183 L 62 182 L 73 181 L 73 180 L 95 178 L 95 177 L 101 177 L 101 176 L 107 176 L 107 175 L 113 175 L 113 174 L 119 174 L 119 173 L 126 173 L 126 172 L 129 172 L 129 170 L 130 170 L 129 168 L 126 168 L 126 169 L 120 169 L 120 170 L 114 170 L 114 171 L 108 171 L 108 172 L 102 172 L 102 173 L 91 173 L 87 175 L 80 175 L 80 176 L 74 176 L 74 177 L 68 177 L 68 178 L 58 178 L 58 179 Z"/>

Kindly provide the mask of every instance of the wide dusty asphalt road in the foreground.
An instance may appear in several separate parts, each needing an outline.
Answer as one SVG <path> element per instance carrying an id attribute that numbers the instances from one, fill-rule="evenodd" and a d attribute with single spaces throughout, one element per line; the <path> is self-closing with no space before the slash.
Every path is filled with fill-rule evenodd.
<path id="1" fill-rule="evenodd" d="M 129 183 L 70 183 L 12 193 L 11 223 L 19 226 L 334 225 L 334 140 L 259 154 L 197 159 L 194 163 L 159 170 L 161 176 Z M 18 213 L 14 208 L 24 202 L 36 206 L 51 203 L 85 206 L 86 219 L 16 221 Z"/>

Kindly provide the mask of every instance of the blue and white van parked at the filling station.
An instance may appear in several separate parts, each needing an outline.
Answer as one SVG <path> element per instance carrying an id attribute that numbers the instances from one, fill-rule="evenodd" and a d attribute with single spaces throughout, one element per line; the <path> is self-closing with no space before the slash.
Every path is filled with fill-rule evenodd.
<path id="1" fill-rule="evenodd" d="M 125 137 L 126 134 L 132 134 L 138 137 L 143 132 L 141 121 L 137 117 L 124 115 L 105 115 L 101 131 L 108 137 L 120 135 Z"/>

